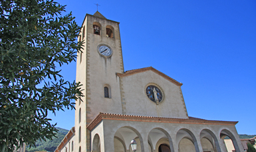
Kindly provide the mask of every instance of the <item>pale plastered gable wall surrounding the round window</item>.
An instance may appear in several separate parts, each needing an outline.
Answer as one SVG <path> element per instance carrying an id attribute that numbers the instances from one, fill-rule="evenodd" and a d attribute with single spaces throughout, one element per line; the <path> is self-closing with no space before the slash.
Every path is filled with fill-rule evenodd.
<path id="1" fill-rule="evenodd" d="M 126 114 L 167 118 L 188 118 L 180 87 L 153 71 L 122 77 Z M 158 105 L 146 95 L 149 84 L 160 87 L 164 100 Z"/>

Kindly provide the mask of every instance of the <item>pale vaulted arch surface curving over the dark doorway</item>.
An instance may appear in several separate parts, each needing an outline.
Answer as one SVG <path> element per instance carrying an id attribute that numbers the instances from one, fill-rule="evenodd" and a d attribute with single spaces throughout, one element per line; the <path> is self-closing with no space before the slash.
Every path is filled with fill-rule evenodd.
<path id="1" fill-rule="evenodd" d="M 151 142 L 152 147 L 156 152 L 162 143 L 168 145 L 170 150 L 174 151 L 174 145 L 170 134 L 162 128 L 153 128 L 150 133 L 148 133 L 148 141 Z"/>

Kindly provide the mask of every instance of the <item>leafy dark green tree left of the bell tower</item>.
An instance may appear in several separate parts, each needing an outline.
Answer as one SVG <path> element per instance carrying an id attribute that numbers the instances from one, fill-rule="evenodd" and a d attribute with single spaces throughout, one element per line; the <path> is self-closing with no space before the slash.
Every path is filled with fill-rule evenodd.
<path id="1" fill-rule="evenodd" d="M 0 5 L 0 151 L 55 136 L 48 112 L 74 108 L 80 83 L 57 65 L 76 59 L 80 27 L 53 0 L 2 0 Z"/>

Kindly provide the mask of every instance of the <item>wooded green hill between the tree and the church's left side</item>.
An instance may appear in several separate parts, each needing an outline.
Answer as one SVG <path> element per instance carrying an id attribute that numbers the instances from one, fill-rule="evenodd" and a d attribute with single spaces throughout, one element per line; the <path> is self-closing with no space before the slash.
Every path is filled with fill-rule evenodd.
<path id="1" fill-rule="evenodd" d="M 57 128 L 59 132 L 57 133 L 57 137 L 53 137 L 53 140 L 47 139 L 47 141 L 37 141 L 36 145 L 37 147 L 31 147 L 29 149 L 29 146 L 26 147 L 26 152 L 34 152 L 34 151 L 55 151 L 55 149 L 58 147 L 58 145 L 61 143 L 63 138 L 65 137 L 66 133 L 68 133 L 69 130 L 65 130 L 63 128 Z"/>

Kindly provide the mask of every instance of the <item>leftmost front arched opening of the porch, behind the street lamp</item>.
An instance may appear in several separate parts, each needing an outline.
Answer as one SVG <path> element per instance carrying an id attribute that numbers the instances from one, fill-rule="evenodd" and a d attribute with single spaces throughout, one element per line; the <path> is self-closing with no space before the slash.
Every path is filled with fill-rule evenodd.
<path id="1" fill-rule="evenodd" d="M 136 152 L 144 151 L 143 141 L 140 133 L 132 127 L 119 128 L 114 134 L 114 152 L 130 151 L 130 142 L 134 139 L 137 142 Z"/>

